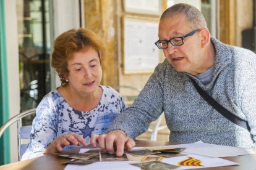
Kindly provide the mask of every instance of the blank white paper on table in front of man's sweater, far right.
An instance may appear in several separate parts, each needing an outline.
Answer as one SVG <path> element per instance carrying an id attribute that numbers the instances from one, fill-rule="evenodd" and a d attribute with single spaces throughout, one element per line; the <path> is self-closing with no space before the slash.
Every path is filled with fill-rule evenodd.
<path id="1" fill-rule="evenodd" d="M 210 156 L 210 157 L 227 157 L 255 154 L 252 148 L 238 148 L 229 147 L 224 145 L 214 145 L 203 143 L 202 141 L 192 144 L 169 145 L 168 147 L 184 147 L 184 153 L 194 153 L 197 155 Z"/>

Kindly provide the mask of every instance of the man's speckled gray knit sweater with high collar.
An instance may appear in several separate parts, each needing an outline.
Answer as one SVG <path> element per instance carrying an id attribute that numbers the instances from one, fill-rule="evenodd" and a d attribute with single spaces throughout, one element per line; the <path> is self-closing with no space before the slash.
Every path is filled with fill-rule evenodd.
<path id="1" fill-rule="evenodd" d="M 164 111 L 170 142 L 254 147 L 256 140 L 256 54 L 211 38 L 216 49 L 213 78 L 206 86 L 177 72 L 167 60 L 151 75 L 132 107 L 117 116 L 108 131 L 121 129 L 135 139 Z M 224 118 L 198 94 L 191 78 L 251 131 Z"/>

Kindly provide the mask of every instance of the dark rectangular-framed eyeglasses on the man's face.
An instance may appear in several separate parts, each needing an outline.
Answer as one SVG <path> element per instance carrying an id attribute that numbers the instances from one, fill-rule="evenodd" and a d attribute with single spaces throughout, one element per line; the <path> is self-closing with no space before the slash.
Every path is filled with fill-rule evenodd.
<path id="1" fill-rule="evenodd" d="M 158 41 L 155 42 L 155 44 L 158 47 L 158 49 L 167 49 L 169 42 L 171 43 L 172 46 L 181 46 L 184 44 L 184 38 L 194 35 L 199 30 L 201 30 L 201 29 L 194 30 L 184 36 L 174 37 L 169 40 L 160 40 L 159 39 Z"/>

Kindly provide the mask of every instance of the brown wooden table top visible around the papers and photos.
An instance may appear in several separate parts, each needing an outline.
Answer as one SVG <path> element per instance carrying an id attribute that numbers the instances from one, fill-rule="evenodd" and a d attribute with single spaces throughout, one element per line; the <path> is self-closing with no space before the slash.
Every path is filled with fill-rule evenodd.
<path id="1" fill-rule="evenodd" d="M 154 142 L 150 140 L 136 140 L 136 147 L 150 147 L 150 146 L 163 146 L 172 145 L 171 142 Z M 80 148 L 72 149 L 72 152 L 79 152 Z M 256 154 L 255 155 L 244 155 L 244 156 L 233 156 L 226 157 L 226 160 L 234 161 L 239 163 L 239 166 L 223 166 L 217 168 L 203 168 L 203 169 L 232 169 L 232 170 L 249 170 L 256 169 Z M 40 156 L 31 160 L 19 161 L 15 163 L 5 164 L 0 166 L 1 169 L 36 169 L 36 170 L 48 170 L 48 169 L 64 169 L 66 164 L 62 164 L 70 159 L 61 158 L 54 155 Z"/>

